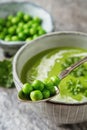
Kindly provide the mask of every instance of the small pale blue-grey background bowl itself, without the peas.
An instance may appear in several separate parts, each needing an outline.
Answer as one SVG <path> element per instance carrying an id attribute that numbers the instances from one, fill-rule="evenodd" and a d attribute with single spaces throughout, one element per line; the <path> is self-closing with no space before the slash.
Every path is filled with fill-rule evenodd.
<path id="1" fill-rule="evenodd" d="M 8 15 L 15 14 L 16 12 L 21 11 L 26 14 L 30 14 L 31 16 L 38 16 L 42 19 L 42 27 L 43 29 L 49 33 L 54 29 L 52 16 L 42 7 L 30 3 L 30 2 L 5 2 L 0 3 L 0 17 L 5 18 Z M 3 48 L 5 53 L 9 55 L 13 55 L 17 52 L 17 50 L 24 45 L 26 42 L 18 41 L 18 42 L 6 42 L 4 40 L 0 40 L 0 47 Z"/>

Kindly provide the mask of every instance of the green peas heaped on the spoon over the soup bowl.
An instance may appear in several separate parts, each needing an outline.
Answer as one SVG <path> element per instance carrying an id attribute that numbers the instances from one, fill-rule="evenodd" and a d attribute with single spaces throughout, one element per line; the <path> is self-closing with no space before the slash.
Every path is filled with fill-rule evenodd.
<path id="1" fill-rule="evenodd" d="M 53 76 L 50 80 L 46 79 L 44 82 L 34 80 L 32 84 L 25 83 L 18 96 L 21 99 L 31 101 L 47 99 L 56 94 L 55 86 L 58 86 L 59 82 L 60 79 L 57 76 Z"/>

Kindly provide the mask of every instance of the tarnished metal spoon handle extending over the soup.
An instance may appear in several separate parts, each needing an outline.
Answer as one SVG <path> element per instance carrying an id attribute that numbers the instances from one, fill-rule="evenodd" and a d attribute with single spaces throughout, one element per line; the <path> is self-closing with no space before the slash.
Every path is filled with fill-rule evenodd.
<path id="1" fill-rule="evenodd" d="M 59 78 L 63 79 L 65 78 L 72 70 L 74 70 L 76 67 L 78 67 L 79 65 L 81 65 L 82 63 L 87 61 L 87 56 L 84 57 L 83 59 L 81 59 L 80 61 L 78 61 L 77 63 L 71 65 L 70 67 L 68 67 L 67 69 L 65 69 L 64 71 L 62 71 L 59 74 Z"/>

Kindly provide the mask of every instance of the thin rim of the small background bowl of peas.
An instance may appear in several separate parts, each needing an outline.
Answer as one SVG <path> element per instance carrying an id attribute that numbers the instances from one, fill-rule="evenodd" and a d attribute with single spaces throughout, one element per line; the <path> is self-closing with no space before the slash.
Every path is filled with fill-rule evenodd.
<path id="1" fill-rule="evenodd" d="M 42 6 L 40 6 L 40 5 L 37 5 L 37 4 L 35 4 L 35 3 L 33 3 L 33 2 L 29 2 L 29 1 L 13 1 L 13 2 L 11 2 L 11 1 L 8 1 L 8 2 L 0 2 L 0 5 L 2 4 L 2 5 L 5 5 L 5 4 L 14 4 L 14 3 L 17 3 L 17 4 L 23 4 L 23 3 L 25 3 L 25 4 L 30 4 L 30 5 L 33 5 L 34 7 L 37 7 L 37 8 L 39 8 L 39 9 L 41 9 L 41 10 L 43 10 L 43 11 L 45 11 L 49 16 L 50 16 L 50 19 L 51 19 L 51 23 L 52 23 L 52 29 L 51 29 L 51 31 L 50 32 L 53 32 L 54 31 L 54 20 L 53 20 L 53 17 L 52 17 L 52 15 L 51 15 L 51 13 L 49 13 L 49 11 L 47 11 L 46 9 L 44 9 Z M 50 33 L 50 32 L 47 32 L 47 33 Z M 0 39 L 0 44 L 2 44 L 2 45 L 12 45 L 12 46 L 15 46 L 15 45 L 23 45 L 23 44 L 25 44 L 26 43 L 26 41 L 4 41 L 4 40 L 2 40 L 2 39 Z"/>

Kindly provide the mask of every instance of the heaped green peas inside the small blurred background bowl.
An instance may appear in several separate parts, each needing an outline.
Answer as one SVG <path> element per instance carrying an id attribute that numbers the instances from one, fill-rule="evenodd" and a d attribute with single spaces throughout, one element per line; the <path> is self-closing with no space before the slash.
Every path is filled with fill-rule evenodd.
<path id="1" fill-rule="evenodd" d="M 0 39 L 5 41 L 31 41 L 46 33 L 42 20 L 23 12 L 0 18 Z"/>

